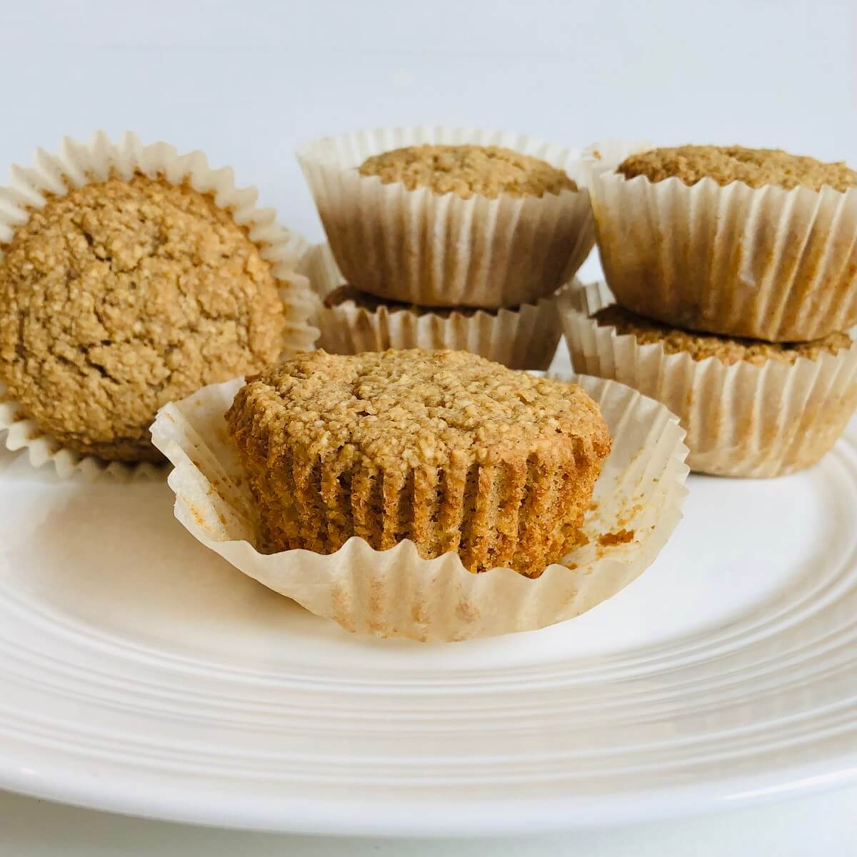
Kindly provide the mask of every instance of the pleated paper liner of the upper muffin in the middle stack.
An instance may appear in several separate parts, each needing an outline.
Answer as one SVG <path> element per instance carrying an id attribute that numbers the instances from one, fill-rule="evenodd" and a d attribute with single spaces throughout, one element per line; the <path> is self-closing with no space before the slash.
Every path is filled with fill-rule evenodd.
<path id="1" fill-rule="evenodd" d="M 580 189 L 464 200 L 357 171 L 371 155 L 424 143 L 514 149 L 565 170 Z M 392 128 L 325 137 L 297 158 L 345 279 L 378 297 L 426 307 L 533 303 L 571 279 L 595 241 L 577 149 L 500 131 Z"/>

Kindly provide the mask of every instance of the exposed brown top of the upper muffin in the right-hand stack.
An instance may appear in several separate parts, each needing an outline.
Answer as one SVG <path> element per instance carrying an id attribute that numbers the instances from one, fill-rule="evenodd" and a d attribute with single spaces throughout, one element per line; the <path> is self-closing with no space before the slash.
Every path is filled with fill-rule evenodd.
<path id="1" fill-rule="evenodd" d="M 677 177 L 687 185 L 713 178 L 720 185 L 743 182 L 751 188 L 776 184 L 819 190 L 828 184 L 836 190 L 857 185 L 857 172 L 842 161 L 824 164 L 806 155 L 782 149 L 746 149 L 741 146 L 679 146 L 651 149 L 626 158 L 618 167 L 626 178 L 645 176 L 651 182 Z"/>

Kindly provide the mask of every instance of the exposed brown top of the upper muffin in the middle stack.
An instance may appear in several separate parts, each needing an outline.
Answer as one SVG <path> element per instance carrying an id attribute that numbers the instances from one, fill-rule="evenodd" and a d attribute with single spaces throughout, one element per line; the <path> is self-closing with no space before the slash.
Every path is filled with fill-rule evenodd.
<path id="1" fill-rule="evenodd" d="M 363 176 L 408 190 L 431 188 L 439 194 L 543 196 L 578 186 L 565 172 L 542 159 L 498 146 L 408 146 L 373 155 L 359 167 Z"/>

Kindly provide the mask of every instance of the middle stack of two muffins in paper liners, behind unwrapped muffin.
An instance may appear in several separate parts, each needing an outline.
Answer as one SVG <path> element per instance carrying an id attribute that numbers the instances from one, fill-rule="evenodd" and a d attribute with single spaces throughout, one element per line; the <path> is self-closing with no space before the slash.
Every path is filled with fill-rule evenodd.
<path id="1" fill-rule="evenodd" d="M 316 141 L 298 157 L 329 240 L 306 267 L 322 348 L 452 348 L 548 367 L 554 294 L 595 240 L 577 152 L 394 129 Z"/>

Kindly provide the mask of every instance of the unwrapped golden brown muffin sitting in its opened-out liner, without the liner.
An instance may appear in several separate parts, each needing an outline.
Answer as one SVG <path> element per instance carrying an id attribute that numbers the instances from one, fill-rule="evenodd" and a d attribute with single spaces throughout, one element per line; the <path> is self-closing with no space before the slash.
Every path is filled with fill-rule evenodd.
<path id="1" fill-rule="evenodd" d="M 403 539 L 537 577 L 572 548 L 610 450 L 598 406 L 464 351 L 315 351 L 226 415 L 270 552 Z"/>

